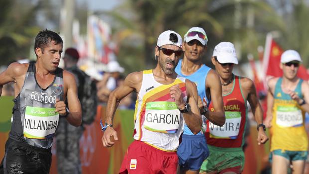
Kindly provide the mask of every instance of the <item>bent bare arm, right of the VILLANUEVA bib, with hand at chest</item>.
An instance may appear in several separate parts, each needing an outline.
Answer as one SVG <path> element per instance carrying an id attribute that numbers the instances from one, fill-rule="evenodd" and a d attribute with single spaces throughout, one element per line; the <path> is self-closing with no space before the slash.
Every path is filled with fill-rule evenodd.
<path id="1" fill-rule="evenodd" d="M 82 123 L 82 109 L 80 105 L 80 101 L 77 96 L 77 85 L 75 81 L 75 77 L 72 73 L 64 70 L 63 71 L 63 83 L 64 83 L 64 94 L 66 94 L 66 98 L 68 100 L 68 108 L 70 114 L 67 117 L 67 121 L 73 126 L 80 126 Z M 66 92 L 67 91 L 67 92 Z M 65 103 L 64 101 L 56 101 L 56 111 L 59 112 L 60 115 L 65 115 Z"/>

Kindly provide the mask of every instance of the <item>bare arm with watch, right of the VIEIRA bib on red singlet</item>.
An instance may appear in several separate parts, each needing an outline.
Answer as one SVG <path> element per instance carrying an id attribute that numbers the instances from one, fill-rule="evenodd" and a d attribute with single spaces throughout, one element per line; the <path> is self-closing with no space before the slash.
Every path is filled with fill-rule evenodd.
<path id="1" fill-rule="evenodd" d="M 250 104 L 255 121 L 257 122 L 258 125 L 262 124 L 263 123 L 263 109 L 259 102 L 253 81 L 248 78 L 242 78 L 240 80 L 240 83 L 243 89 L 243 94 L 245 97 L 247 97 L 247 100 Z M 261 143 L 264 144 L 267 142 L 267 140 L 268 140 L 268 137 L 265 134 L 263 127 L 259 127 L 258 138 L 257 138 L 258 144 L 259 145 Z"/>

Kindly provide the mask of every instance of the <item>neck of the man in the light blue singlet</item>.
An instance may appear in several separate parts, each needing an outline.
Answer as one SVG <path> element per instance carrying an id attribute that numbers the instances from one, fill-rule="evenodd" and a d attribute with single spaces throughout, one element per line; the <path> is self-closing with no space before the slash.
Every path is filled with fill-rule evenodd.
<path id="1" fill-rule="evenodd" d="M 185 55 L 181 62 L 181 73 L 184 75 L 191 75 L 203 66 L 201 59 L 197 61 L 189 60 Z"/>

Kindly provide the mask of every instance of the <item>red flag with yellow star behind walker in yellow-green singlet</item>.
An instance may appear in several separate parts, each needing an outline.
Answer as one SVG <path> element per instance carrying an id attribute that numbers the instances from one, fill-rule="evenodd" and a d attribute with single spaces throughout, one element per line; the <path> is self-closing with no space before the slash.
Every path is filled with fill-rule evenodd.
<path id="1" fill-rule="evenodd" d="M 279 66 L 282 53 L 282 48 L 273 40 L 272 36 L 268 34 L 263 58 L 265 80 L 268 80 L 270 77 L 282 76 L 282 70 Z M 300 65 L 297 76 L 306 81 L 309 79 L 309 73 L 303 65 Z"/>

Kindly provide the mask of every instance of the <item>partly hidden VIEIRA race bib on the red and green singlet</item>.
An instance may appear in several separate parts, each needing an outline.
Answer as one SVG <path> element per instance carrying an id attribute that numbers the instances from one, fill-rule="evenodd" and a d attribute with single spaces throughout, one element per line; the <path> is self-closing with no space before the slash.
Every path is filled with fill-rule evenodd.
<path id="1" fill-rule="evenodd" d="M 241 112 L 226 111 L 223 126 L 217 126 L 209 122 L 209 135 L 211 138 L 236 139 L 239 134 L 240 122 Z"/>

